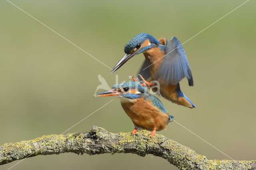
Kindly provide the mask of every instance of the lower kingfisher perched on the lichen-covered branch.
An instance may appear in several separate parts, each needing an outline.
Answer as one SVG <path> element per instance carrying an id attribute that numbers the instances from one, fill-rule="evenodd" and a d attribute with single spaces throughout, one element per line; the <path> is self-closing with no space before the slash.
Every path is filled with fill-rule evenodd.
<path id="1" fill-rule="evenodd" d="M 120 98 L 125 113 L 134 123 L 132 135 L 137 130 L 150 130 L 153 138 L 156 131 L 165 130 L 174 117 L 169 115 L 162 102 L 148 93 L 140 82 L 131 81 L 113 85 L 111 90 L 103 91 L 94 97 L 116 96 Z"/>

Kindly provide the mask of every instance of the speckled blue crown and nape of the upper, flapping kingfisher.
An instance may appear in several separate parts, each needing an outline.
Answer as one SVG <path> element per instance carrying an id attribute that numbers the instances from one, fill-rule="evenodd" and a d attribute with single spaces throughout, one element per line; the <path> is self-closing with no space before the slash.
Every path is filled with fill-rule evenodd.
<path id="1" fill-rule="evenodd" d="M 148 39 L 150 41 L 150 43 L 154 43 L 156 45 L 160 45 L 161 43 L 156 40 L 156 38 L 154 38 L 153 36 L 151 36 L 150 34 L 146 34 L 146 33 L 140 33 L 137 34 L 136 36 L 134 36 L 125 46 L 124 46 L 124 52 L 125 53 L 129 53 L 130 51 L 132 51 L 132 49 L 134 49 L 136 47 L 136 45 L 138 43 L 142 44 L 146 39 Z"/>

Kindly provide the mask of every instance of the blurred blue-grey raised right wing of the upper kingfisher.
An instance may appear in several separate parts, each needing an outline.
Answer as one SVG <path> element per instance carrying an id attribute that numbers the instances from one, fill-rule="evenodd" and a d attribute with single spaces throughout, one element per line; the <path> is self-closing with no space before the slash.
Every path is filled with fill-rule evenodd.
<path id="1" fill-rule="evenodd" d="M 188 85 L 193 86 L 193 77 L 188 64 L 186 53 L 176 37 L 172 37 L 166 44 L 165 54 L 158 69 L 158 79 L 168 84 L 177 84 L 184 77 L 188 79 Z"/>

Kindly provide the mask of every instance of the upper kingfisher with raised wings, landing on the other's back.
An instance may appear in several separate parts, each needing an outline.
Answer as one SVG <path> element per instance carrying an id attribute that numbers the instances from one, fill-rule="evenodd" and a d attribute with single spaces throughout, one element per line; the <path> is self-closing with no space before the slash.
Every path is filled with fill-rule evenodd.
<path id="1" fill-rule="evenodd" d="M 193 77 L 186 53 L 176 37 L 170 42 L 166 38 L 156 40 L 153 36 L 140 33 L 124 46 L 125 55 L 112 69 L 119 69 L 133 56 L 143 53 L 145 61 L 139 71 L 142 80 L 156 92 L 156 82 L 160 85 L 160 95 L 165 99 L 189 108 L 196 107 L 180 90 L 180 81 L 187 77 L 188 85 L 193 86 Z M 134 78 L 133 78 L 134 79 Z M 136 81 L 136 79 L 134 79 Z M 153 83 L 151 83 L 153 82 Z"/>

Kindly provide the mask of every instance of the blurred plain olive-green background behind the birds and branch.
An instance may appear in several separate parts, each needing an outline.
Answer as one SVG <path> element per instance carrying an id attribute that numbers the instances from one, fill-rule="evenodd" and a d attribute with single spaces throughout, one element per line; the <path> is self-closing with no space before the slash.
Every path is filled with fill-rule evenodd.
<path id="1" fill-rule="evenodd" d="M 159 39 L 185 42 L 240 4 L 240 0 L 80 1 L 12 0 L 71 42 L 112 68 L 124 45 L 146 32 Z M 255 160 L 256 12 L 249 1 L 183 45 L 194 87 L 181 89 L 197 106 L 181 107 L 160 98 L 175 120 L 235 160 Z M 121 69 L 110 69 L 18 8 L 0 2 L 0 144 L 60 134 L 104 104 L 111 103 L 66 133 L 92 125 L 110 132 L 130 132 L 133 123 L 117 98 L 94 98 L 98 74 L 110 87 L 136 75 L 143 54 Z M 100 89 L 98 92 L 103 91 Z M 205 155 L 229 159 L 177 123 L 157 132 Z M 8 169 L 18 161 L 0 166 Z M 166 160 L 134 154 L 36 156 L 12 170 L 176 169 Z"/>

